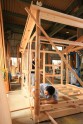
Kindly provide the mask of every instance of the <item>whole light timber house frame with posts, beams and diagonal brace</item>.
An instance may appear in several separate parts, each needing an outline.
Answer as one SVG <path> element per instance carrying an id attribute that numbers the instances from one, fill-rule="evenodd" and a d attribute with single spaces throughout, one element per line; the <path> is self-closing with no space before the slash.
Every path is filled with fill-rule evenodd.
<path id="1" fill-rule="evenodd" d="M 76 86 L 71 86 L 68 84 L 68 69 L 75 75 L 76 79 L 79 81 L 79 83 L 83 86 L 83 81 L 78 77 L 78 75 L 72 70 L 71 66 L 68 64 L 68 56 L 67 60 L 64 57 L 64 54 L 62 54 L 56 47 L 55 43 L 59 44 L 67 44 L 69 45 L 66 49 L 63 50 L 63 53 L 67 53 L 68 51 L 71 51 L 72 48 L 75 46 L 83 46 L 82 40 L 83 37 L 78 39 L 76 42 L 72 41 L 65 41 L 60 39 L 53 39 L 50 38 L 47 33 L 44 31 L 44 29 L 41 27 L 41 19 L 49 20 L 53 22 L 58 22 L 66 25 L 71 25 L 74 27 L 83 28 L 83 20 L 80 18 L 76 18 L 70 15 L 62 14 L 59 12 L 55 12 L 52 10 L 48 10 L 39 6 L 32 5 L 30 7 L 30 10 L 26 8 L 26 11 L 29 14 L 29 17 L 26 22 L 24 34 L 22 37 L 22 41 L 20 44 L 20 52 L 22 52 L 22 55 L 24 54 L 25 48 L 28 44 L 28 65 L 31 63 L 31 51 L 35 52 L 35 99 L 34 99 L 34 114 L 33 118 L 35 122 L 40 122 L 44 120 L 48 120 L 48 117 L 51 119 L 51 121 L 54 122 L 53 118 L 62 117 L 70 114 L 75 114 L 79 112 L 83 112 L 83 91 L 82 88 L 78 88 Z M 36 32 L 31 37 L 31 33 L 33 31 L 33 28 L 36 24 Z M 40 29 L 40 30 L 39 30 Z M 40 31 L 44 34 L 45 37 L 40 36 Z M 36 35 L 35 35 L 36 34 Z M 31 44 L 36 36 L 35 43 L 35 50 L 31 50 Z M 59 90 L 59 102 L 58 104 L 49 104 L 49 105 L 40 105 L 40 98 L 39 98 L 39 84 L 40 84 L 40 74 L 43 75 L 43 81 L 45 82 L 45 53 L 46 51 L 40 50 L 40 40 L 49 41 L 49 43 L 55 48 L 56 52 L 59 54 L 62 60 L 61 64 L 61 84 L 60 85 L 54 85 Z M 78 48 L 78 47 L 77 47 Z M 75 48 L 74 48 L 75 49 Z M 40 71 L 40 53 L 43 53 L 43 73 Z M 47 53 L 52 53 L 52 51 L 48 51 Z M 27 58 L 26 58 L 27 59 Z M 63 62 L 66 64 L 66 85 L 63 85 Z M 48 65 L 47 65 L 48 66 Z M 49 65 L 52 66 L 52 65 Z M 29 65 L 28 68 L 28 81 L 30 86 L 30 72 L 31 72 L 31 66 Z M 25 72 L 26 73 L 26 72 Z M 50 75 L 48 75 L 50 76 Z M 48 79 L 49 80 L 49 79 Z M 51 83 L 51 81 L 49 80 Z M 30 88 L 30 87 L 29 87 Z M 32 101 L 31 101 L 32 102 Z M 33 106 L 33 104 L 32 104 Z M 47 112 L 46 112 L 47 111 Z M 54 122 L 56 124 L 56 122 Z"/>

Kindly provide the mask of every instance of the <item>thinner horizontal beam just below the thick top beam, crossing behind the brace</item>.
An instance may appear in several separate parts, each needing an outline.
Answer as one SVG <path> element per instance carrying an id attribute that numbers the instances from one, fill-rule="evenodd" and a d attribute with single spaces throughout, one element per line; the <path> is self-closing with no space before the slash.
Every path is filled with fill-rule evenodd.
<path id="1" fill-rule="evenodd" d="M 43 41 L 48 41 L 45 37 L 40 36 L 40 39 Z M 58 38 L 50 38 L 53 43 L 59 43 L 59 44 L 66 44 L 66 45 L 74 45 L 74 46 L 83 46 L 83 43 L 81 42 L 74 42 L 69 40 L 62 40 Z"/>

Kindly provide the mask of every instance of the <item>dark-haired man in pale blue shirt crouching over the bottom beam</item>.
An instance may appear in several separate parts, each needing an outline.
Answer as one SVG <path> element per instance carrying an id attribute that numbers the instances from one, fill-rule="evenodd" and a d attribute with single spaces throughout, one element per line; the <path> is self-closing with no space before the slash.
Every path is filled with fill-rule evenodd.
<path id="1" fill-rule="evenodd" d="M 32 89 L 32 95 L 34 94 L 35 88 Z M 55 104 L 58 102 L 58 91 L 47 83 L 41 83 L 40 98 L 45 98 L 45 100 L 40 100 L 40 104 Z"/>

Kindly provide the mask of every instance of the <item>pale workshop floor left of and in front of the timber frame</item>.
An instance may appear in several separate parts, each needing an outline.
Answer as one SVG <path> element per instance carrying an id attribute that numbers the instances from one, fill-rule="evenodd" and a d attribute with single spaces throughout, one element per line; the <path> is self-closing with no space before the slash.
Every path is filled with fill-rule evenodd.
<path id="1" fill-rule="evenodd" d="M 29 107 L 28 96 L 21 90 L 10 92 L 8 95 L 10 111 Z M 11 112 L 13 124 L 34 124 L 30 109 Z M 55 119 L 58 124 L 83 124 L 83 113 Z M 50 121 L 41 124 L 51 124 Z"/>

